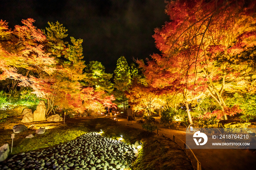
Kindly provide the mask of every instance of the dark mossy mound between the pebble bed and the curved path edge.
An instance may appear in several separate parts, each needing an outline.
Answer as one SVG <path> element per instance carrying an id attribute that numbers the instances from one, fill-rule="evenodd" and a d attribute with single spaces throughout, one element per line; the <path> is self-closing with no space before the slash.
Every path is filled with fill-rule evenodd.
<path id="1" fill-rule="evenodd" d="M 176 143 L 156 135 L 144 138 L 142 143 L 143 150 L 133 164 L 135 169 L 193 169 L 189 158 Z"/>

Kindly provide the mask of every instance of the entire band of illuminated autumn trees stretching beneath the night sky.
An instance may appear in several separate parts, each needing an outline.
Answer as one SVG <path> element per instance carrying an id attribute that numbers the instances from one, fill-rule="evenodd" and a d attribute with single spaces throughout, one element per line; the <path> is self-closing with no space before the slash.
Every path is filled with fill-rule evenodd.
<path id="1" fill-rule="evenodd" d="M 256 117 L 254 107 L 230 98 L 255 98 L 255 9 L 253 0 L 168 1 L 170 20 L 153 35 L 160 54 L 130 65 L 122 56 L 113 74 L 105 73 L 101 62 L 86 64 L 83 40 L 65 42 L 68 30 L 59 22 L 40 30 L 29 18 L 11 30 L 0 20 L 2 89 L 27 88 L 22 93 L 44 99 L 48 113 L 54 106 L 95 113 L 119 104 L 125 112 L 129 104 L 150 116 L 182 106 L 189 124 L 191 108 L 210 97 L 218 106 L 204 117 L 242 113 L 248 121 Z"/>

